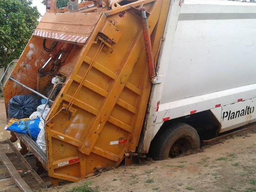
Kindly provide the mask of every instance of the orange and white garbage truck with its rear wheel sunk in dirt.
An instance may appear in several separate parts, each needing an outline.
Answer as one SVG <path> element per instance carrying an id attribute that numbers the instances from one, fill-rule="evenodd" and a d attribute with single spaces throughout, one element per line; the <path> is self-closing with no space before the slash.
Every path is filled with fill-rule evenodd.
<path id="1" fill-rule="evenodd" d="M 256 4 L 55 4 L 47 1 L 1 82 L 7 112 L 13 96 L 47 99 L 46 151 L 27 134 L 12 133 L 11 140 L 20 139 L 53 183 L 76 182 L 135 156 L 178 157 L 256 120 Z"/>

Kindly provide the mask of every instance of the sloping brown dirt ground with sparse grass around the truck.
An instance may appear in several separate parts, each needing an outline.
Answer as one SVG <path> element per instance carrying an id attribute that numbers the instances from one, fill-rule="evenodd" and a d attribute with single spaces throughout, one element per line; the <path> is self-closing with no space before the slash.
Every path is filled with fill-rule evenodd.
<path id="1" fill-rule="evenodd" d="M 4 102 L 0 100 L 1 140 L 9 136 L 4 131 L 5 124 Z M 63 182 L 62 186 L 47 191 L 67 192 L 84 183 L 99 192 L 256 191 L 256 131 L 203 147 L 196 154 L 133 164 L 126 171 L 122 165 L 78 183 Z M 3 165 L 0 165 L 0 191 L 19 191 Z"/>

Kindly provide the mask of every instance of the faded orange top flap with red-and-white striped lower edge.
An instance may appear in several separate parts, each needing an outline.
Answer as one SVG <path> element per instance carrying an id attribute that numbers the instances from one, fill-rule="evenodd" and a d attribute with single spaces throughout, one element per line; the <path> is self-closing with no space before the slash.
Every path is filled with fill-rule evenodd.
<path id="1" fill-rule="evenodd" d="M 45 13 L 33 35 L 85 44 L 102 13 Z"/>

